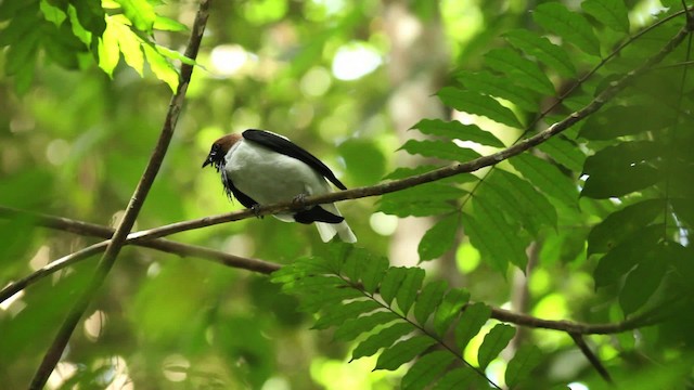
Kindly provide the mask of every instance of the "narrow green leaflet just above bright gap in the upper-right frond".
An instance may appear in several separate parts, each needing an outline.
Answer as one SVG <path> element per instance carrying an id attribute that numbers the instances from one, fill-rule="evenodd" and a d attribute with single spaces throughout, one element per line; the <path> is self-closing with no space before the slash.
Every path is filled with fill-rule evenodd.
<path id="1" fill-rule="evenodd" d="M 458 110 L 485 116 L 509 127 L 523 128 L 515 114 L 502 106 L 493 98 L 472 91 L 462 91 L 452 87 L 442 88 L 438 91 L 438 96 L 444 104 Z"/>

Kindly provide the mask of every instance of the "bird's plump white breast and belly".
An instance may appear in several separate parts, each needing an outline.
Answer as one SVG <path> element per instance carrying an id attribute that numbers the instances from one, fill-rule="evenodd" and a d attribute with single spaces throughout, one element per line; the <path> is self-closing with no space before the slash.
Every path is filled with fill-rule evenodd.
<path id="1" fill-rule="evenodd" d="M 305 162 L 242 140 L 227 153 L 227 174 L 260 205 L 330 192 L 325 179 Z"/>

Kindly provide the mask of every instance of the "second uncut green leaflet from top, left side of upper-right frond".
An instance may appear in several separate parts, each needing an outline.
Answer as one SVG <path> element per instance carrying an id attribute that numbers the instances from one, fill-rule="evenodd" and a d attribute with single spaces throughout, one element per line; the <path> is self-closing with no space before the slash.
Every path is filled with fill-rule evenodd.
<path id="1" fill-rule="evenodd" d="M 526 29 L 511 30 L 503 36 L 516 49 L 532 55 L 538 61 L 564 77 L 575 77 L 576 67 L 568 54 L 549 39 Z"/>

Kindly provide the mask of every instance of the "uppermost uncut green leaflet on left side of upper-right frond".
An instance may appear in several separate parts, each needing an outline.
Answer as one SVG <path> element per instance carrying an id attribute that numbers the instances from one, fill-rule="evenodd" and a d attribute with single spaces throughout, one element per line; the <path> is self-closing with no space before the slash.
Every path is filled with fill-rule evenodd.
<path id="1" fill-rule="evenodd" d="M 569 11 L 558 2 L 548 2 L 538 5 L 532 12 L 532 18 L 548 31 L 564 38 L 588 54 L 600 56 L 600 41 L 595 38 L 593 28 L 586 18 Z"/>

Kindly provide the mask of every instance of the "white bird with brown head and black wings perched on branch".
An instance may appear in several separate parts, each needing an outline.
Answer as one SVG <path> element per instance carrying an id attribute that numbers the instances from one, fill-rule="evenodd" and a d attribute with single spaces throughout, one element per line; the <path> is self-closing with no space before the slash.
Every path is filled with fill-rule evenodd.
<path id="1" fill-rule="evenodd" d="M 215 141 L 202 168 L 214 167 L 221 176 L 224 193 L 244 207 L 294 200 L 332 192 L 327 181 L 347 190 L 333 171 L 305 148 L 271 131 L 248 129 Z M 357 237 L 334 204 L 309 206 L 273 214 L 284 222 L 316 223 L 323 242 L 335 235 L 343 242 Z"/>

